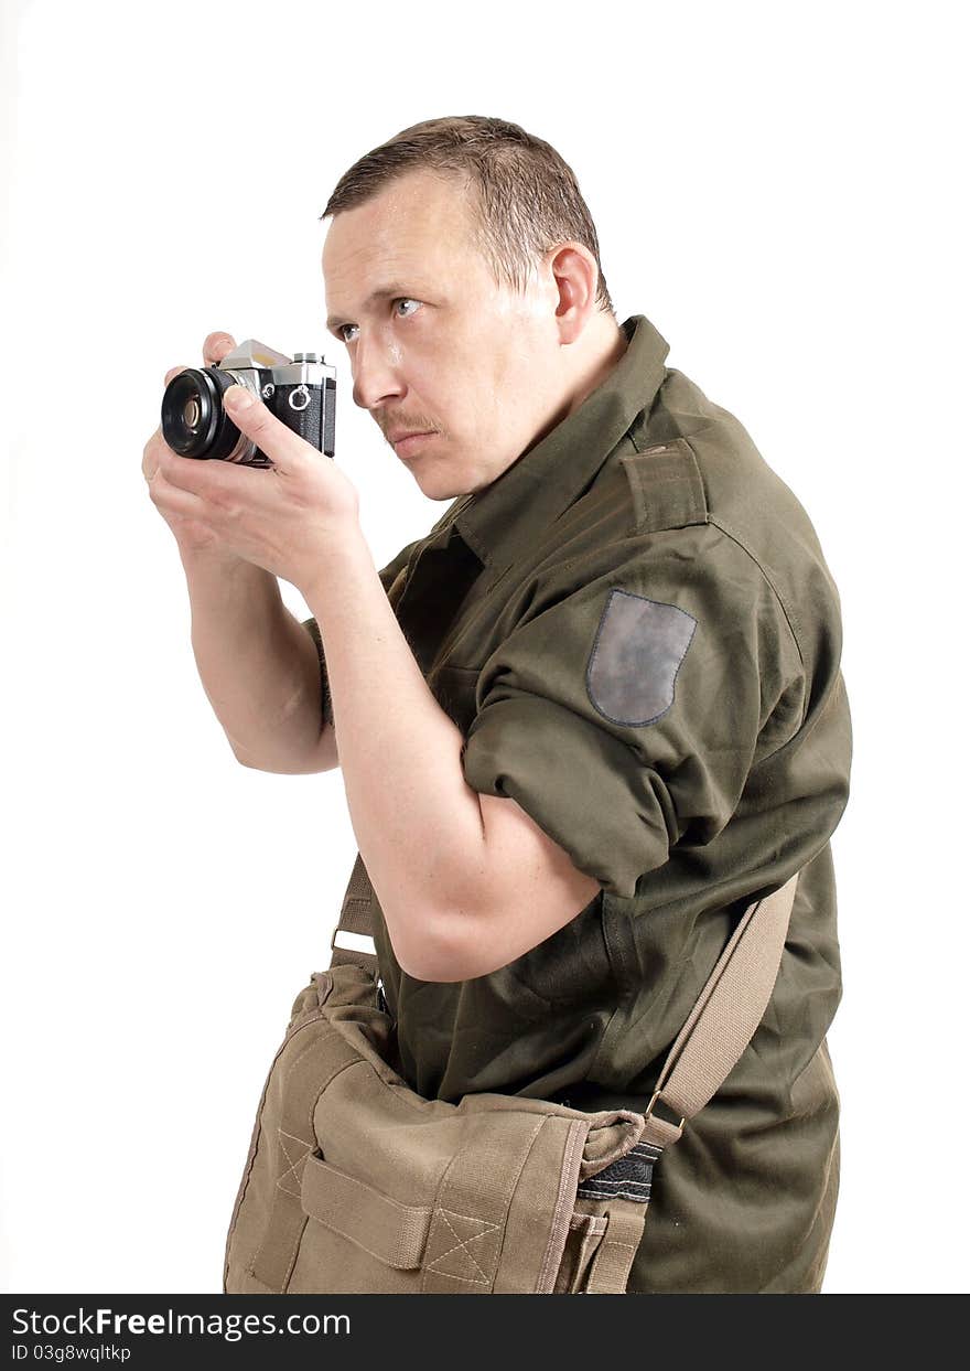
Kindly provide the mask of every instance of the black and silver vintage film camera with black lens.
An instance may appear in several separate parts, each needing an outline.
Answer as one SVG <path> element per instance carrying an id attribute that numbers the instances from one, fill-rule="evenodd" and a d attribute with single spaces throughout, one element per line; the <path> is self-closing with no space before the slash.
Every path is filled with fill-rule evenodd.
<path id="1" fill-rule="evenodd" d="M 162 398 L 162 432 L 173 452 L 273 466 L 226 414 L 222 396 L 230 385 L 244 385 L 286 428 L 333 457 L 336 369 L 316 352 L 288 358 L 256 339 L 240 343 L 218 366 L 189 367 L 171 378 Z"/>

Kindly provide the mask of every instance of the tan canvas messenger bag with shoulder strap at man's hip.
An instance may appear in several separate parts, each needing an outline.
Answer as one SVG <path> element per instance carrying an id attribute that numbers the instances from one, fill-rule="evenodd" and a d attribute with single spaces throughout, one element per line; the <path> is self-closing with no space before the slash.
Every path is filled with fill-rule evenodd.
<path id="1" fill-rule="evenodd" d="M 643 1115 L 416 1094 L 390 1064 L 375 958 L 338 947 L 366 931 L 348 898 L 270 1067 L 225 1293 L 623 1294 L 654 1167 L 764 1013 L 796 882 L 744 912 Z"/>

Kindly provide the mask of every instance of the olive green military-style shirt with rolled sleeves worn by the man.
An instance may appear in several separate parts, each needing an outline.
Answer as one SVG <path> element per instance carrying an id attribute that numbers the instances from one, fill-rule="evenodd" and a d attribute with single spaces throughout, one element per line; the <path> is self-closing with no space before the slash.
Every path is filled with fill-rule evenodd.
<path id="1" fill-rule="evenodd" d="M 800 871 L 764 1019 L 658 1163 L 629 1291 L 810 1291 L 838 1189 L 838 594 L 741 424 L 664 365 L 647 318 L 623 330 L 573 414 L 381 572 L 467 783 L 601 887 L 453 984 L 401 971 L 371 890 L 396 1064 L 429 1098 L 643 1111 L 740 914 Z"/>

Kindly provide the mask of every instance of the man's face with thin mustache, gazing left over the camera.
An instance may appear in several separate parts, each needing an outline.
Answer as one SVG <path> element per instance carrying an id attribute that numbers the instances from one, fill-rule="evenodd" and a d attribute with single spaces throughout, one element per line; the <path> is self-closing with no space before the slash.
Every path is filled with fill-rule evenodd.
<path id="1" fill-rule="evenodd" d="M 432 430 L 395 451 L 436 500 L 489 485 L 566 413 L 552 274 L 523 296 L 499 287 L 471 237 L 470 193 L 407 173 L 334 215 L 323 245 L 327 326 L 353 400 L 389 443 Z"/>

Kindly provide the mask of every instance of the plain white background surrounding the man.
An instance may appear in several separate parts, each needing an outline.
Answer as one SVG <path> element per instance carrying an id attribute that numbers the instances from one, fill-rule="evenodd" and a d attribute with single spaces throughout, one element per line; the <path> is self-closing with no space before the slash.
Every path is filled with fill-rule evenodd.
<path id="1" fill-rule="evenodd" d="M 319 215 L 359 155 L 443 114 L 560 151 L 619 318 L 651 318 L 818 529 L 855 729 L 826 1290 L 967 1289 L 960 12 L 4 0 L 10 1290 L 219 1289 L 355 845 L 338 772 L 234 761 L 141 450 L 210 330 L 323 350 L 377 565 L 430 528 L 444 506 L 325 333 Z"/>

